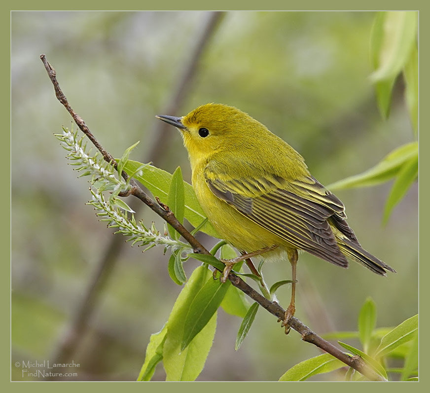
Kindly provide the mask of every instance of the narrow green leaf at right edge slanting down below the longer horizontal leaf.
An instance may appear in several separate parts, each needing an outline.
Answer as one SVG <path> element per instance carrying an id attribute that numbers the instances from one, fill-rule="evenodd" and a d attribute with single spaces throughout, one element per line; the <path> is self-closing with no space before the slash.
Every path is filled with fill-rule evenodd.
<path id="1" fill-rule="evenodd" d="M 388 196 L 387 202 L 385 203 L 383 218 L 384 224 L 387 223 L 388 219 L 390 218 L 390 214 L 394 206 L 401 201 L 417 177 L 418 153 L 415 157 L 412 157 L 409 161 L 406 161 L 398 172 L 397 178 L 395 179 L 393 187 L 390 191 L 390 195 Z"/>

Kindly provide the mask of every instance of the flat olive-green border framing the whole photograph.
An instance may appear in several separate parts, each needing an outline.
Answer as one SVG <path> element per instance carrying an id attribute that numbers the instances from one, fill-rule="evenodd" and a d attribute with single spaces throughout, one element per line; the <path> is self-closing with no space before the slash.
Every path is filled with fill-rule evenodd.
<path id="1" fill-rule="evenodd" d="M 2 4 L 1 9 L 1 29 L 2 29 L 2 48 L 3 53 L 10 52 L 10 12 L 11 10 L 49 10 L 49 9 L 64 9 L 64 10 L 70 10 L 70 9 L 79 9 L 79 10 L 85 10 L 85 9 L 104 9 L 104 10 L 117 10 L 119 8 L 119 5 L 121 6 L 121 9 L 128 9 L 128 10 L 137 10 L 137 9 L 147 9 L 147 10 L 161 10 L 161 9 L 178 9 L 178 2 L 173 0 L 168 1 L 152 1 L 152 2 L 140 2 L 137 0 L 132 1 L 123 1 L 121 4 L 118 4 L 117 2 L 110 2 L 108 4 L 107 2 L 97 2 L 97 1 L 81 1 L 76 0 L 72 3 L 65 2 L 60 4 L 58 1 L 39 1 L 37 4 L 33 1 L 20 1 L 20 2 L 12 2 L 7 1 Z M 186 10 L 186 9 L 251 9 L 251 10 L 378 10 L 378 9 L 408 9 L 408 10 L 419 10 L 420 11 L 420 24 L 419 24 L 419 36 L 420 36 L 420 70 L 429 70 L 429 42 L 427 42 L 427 37 L 430 36 L 430 21 L 429 21 L 429 14 L 428 11 L 430 9 L 429 3 L 425 4 L 425 1 L 417 1 L 417 0 L 410 0 L 410 1 L 399 1 L 399 0 L 392 0 L 392 1 L 381 1 L 381 0 L 362 0 L 359 3 L 353 3 L 353 2 L 345 2 L 345 0 L 328 0 L 324 1 L 323 3 L 321 1 L 317 0 L 311 0 L 311 1 L 300 1 L 300 2 L 286 2 L 286 1 L 280 1 L 280 0 L 269 0 L 265 1 L 264 3 L 261 1 L 235 1 L 234 3 L 230 1 L 225 0 L 217 0 L 216 4 L 213 3 L 216 8 L 210 7 L 211 3 L 203 4 L 202 1 L 190 1 L 185 0 L 180 2 L 180 9 Z M 264 6 L 262 6 L 264 5 Z M 3 8 L 4 7 L 4 8 Z M 9 56 L 10 59 L 10 56 Z M 5 65 L 6 62 L 3 62 L 3 68 L 5 70 L 3 71 L 3 75 L 7 75 L 3 78 L 1 78 L 1 92 L 4 96 L 5 105 L 1 106 L 1 110 L 3 113 L 2 118 L 8 119 L 9 118 L 9 130 L 10 130 L 10 67 L 7 67 Z M 427 108 L 429 107 L 429 93 L 428 89 L 426 89 L 427 86 L 430 86 L 429 83 L 429 72 L 421 72 L 420 73 L 420 108 Z M 6 105 L 9 103 L 9 105 Z M 424 174 L 423 178 L 426 179 L 426 170 L 429 167 L 429 154 L 426 154 L 427 152 L 427 146 L 428 146 L 428 140 L 429 140 L 429 132 L 427 132 L 427 129 L 429 127 L 426 127 L 429 124 L 429 111 L 428 110 L 421 110 L 420 111 L 420 130 L 424 130 L 424 132 L 419 133 L 419 141 L 420 141 L 420 153 L 424 152 L 425 154 L 420 154 L 420 161 L 419 161 L 419 168 L 420 168 L 420 178 L 421 175 Z M 3 128 L 6 128 L 3 126 Z M 7 131 L 3 131 L 7 132 Z M 6 181 L 9 184 L 9 192 L 3 192 L 1 194 L 1 202 L 3 206 L 9 206 L 10 207 L 10 133 L 9 136 L 9 143 L 3 142 L 0 144 L 1 149 L 1 168 L 7 168 L 8 170 L 5 171 L 6 173 Z M 424 200 L 424 202 L 427 200 L 428 197 L 428 188 L 429 185 L 424 182 L 420 184 L 420 202 Z M 427 218 L 429 216 L 429 207 L 427 203 L 420 203 L 420 240 L 426 240 L 427 235 L 429 232 L 429 226 L 426 225 Z M 11 224 L 11 222 L 10 222 Z M 7 230 L 9 229 L 9 230 Z M 7 392 L 22 392 L 25 390 L 32 390 L 34 391 L 43 391 L 43 392 L 49 392 L 49 391 L 64 391 L 64 392 L 74 392 L 76 389 L 84 390 L 84 391 L 93 391 L 94 389 L 104 389 L 106 391 L 117 391 L 118 389 L 135 389 L 139 391 L 172 391 L 173 389 L 175 391 L 187 391 L 187 392 L 193 392 L 193 391 L 201 391 L 204 390 L 205 392 L 211 392 L 211 391 L 218 391 L 219 389 L 225 389 L 226 387 L 224 384 L 228 384 L 228 388 L 233 389 L 247 389 L 249 391 L 260 391 L 261 389 L 294 389 L 294 390 L 308 390 L 308 389 L 318 389 L 321 390 L 335 390 L 338 389 L 348 389 L 348 391 L 355 391 L 356 389 L 366 389 L 366 390 L 372 390 L 376 391 L 376 389 L 379 391 L 385 391 L 390 390 L 390 392 L 393 391 L 404 391 L 405 386 L 403 386 L 403 383 L 390 383 L 389 385 L 381 385 L 378 384 L 375 386 L 375 383 L 369 383 L 367 385 L 362 384 L 349 384 L 348 388 L 343 385 L 343 383 L 319 383 L 319 386 L 313 386 L 313 382 L 308 382 L 307 384 L 301 384 L 300 387 L 298 385 L 294 386 L 285 386 L 285 387 L 279 387 L 274 386 L 272 384 L 275 384 L 276 382 L 195 382 L 195 383 L 162 383 L 162 382 L 149 382 L 145 383 L 145 385 L 139 384 L 139 383 L 133 383 L 133 382 L 113 382 L 113 383 L 107 383 L 107 382 L 77 382 L 80 384 L 79 387 L 76 387 L 74 383 L 72 382 L 10 382 L 10 264 L 8 264 L 6 261 L 10 261 L 10 230 L 11 226 L 7 228 L 7 225 L 3 224 L 3 236 L 0 237 L 0 247 L 2 252 L 5 254 L 3 259 L 3 269 L 6 270 L 2 274 L 2 283 L 1 283 L 1 290 L 2 290 L 2 311 L 4 313 L 7 313 L 9 318 L 3 318 L 3 321 L 7 321 L 7 323 L 3 323 L 2 328 L 2 351 L 3 354 L 1 359 L 1 382 L 3 388 L 6 389 Z M 421 242 L 420 242 L 421 244 Z M 421 247 L 420 247 L 420 262 L 423 261 L 423 263 L 420 263 L 420 299 L 425 299 L 427 296 L 429 296 L 429 288 L 428 286 L 425 286 L 425 278 L 429 277 L 429 263 L 421 258 Z M 428 313 L 426 313 L 426 309 L 422 309 L 420 302 L 420 327 L 427 326 L 428 325 Z M 420 349 L 426 348 L 427 344 L 427 338 L 426 335 L 421 335 L 420 337 Z M 426 365 L 428 364 L 429 360 L 427 357 L 425 357 L 424 350 L 420 351 L 420 370 L 421 372 L 425 369 Z M 100 386 L 88 386 L 89 384 L 104 384 L 103 387 Z M 118 383 L 121 383 L 121 387 L 117 386 Z M 28 385 L 30 384 L 30 385 Z M 37 384 L 37 385 L 35 385 Z M 58 384 L 61 384 L 59 386 Z M 83 385 L 82 385 L 83 384 Z M 124 384 L 127 384 L 127 386 L 124 386 Z M 174 384 L 172 386 L 172 384 Z M 203 384 L 203 385 L 202 385 Z M 219 384 L 223 384 L 220 386 Z M 237 384 L 240 384 L 241 386 L 237 386 Z M 262 386 L 264 384 L 264 387 Z M 271 386 L 266 386 L 267 384 L 270 384 Z M 309 385 L 311 384 L 311 385 Z M 424 384 L 424 385 L 423 385 Z M 244 386 L 246 385 L 246 386 Z M 425 373 L 421 373 L 420 376 L 420 382 L 415 383 L 412 385 L 408 385 L 408 389 L 416 390 L 419 389 L 420 391 L 428 386 L 428 377 L 425 375 Z M 427 388 L 428 389 L 428 388 Z M 424 391 L 424 389 L 423 389 Z"/>

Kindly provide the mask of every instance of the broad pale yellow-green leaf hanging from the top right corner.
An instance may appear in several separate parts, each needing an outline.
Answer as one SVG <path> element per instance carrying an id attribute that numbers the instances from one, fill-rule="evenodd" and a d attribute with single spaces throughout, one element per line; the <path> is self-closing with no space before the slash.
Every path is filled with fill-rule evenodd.
<path id="1" fill-rule="evenodd" d="M 389 79 L 405 66 L 417 34 L 417 12 L 387 11 L 380 43 L 378 68 L 372 81 Z"/>

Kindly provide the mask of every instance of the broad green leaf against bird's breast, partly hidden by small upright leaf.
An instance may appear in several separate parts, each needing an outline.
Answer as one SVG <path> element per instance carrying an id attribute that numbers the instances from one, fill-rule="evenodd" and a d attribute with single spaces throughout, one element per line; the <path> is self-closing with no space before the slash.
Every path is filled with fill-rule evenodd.
<path id="1" fill-rule="evenodd" d="M 158 196 L 161 202 L 167 204 L 167 195 L 169 193 L 172 175 L 169 172 L 163 171 L 162 169 L 152 165 L 145 165 L 133 160 L 128 160 L 126 162 L 124 165 L 124 171 L 130 175 L 135 173 L 135 171 L 142 165 L 142 173 L 138 172 L 134 178 L 139 180 L 152 193 L 152 195 Z M 203 213 L 203 210 L 197 201 L 192 185 L 184 181 L 183 186 L 185 199 L 184 217 L 191 225 L 196 227 L 206 218 L 206 214 Z M 210 222 L 206 222 L 200 230 L 210 236 L 214 236 L 216 238 L 220 237 Z"/>

